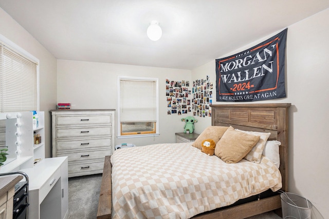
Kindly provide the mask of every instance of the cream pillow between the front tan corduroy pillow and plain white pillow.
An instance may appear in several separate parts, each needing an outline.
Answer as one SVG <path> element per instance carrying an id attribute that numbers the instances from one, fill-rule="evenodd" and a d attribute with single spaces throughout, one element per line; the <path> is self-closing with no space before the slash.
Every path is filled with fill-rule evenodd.
<path id="1" fill-rule="evenodd" d="M 244 157 L 247 161 L 251 161 L 254 163 L 261 163 L 262 153 L 265 147 L 265 143 L 268 137 L 271 135 L 270 132 L 255 132 L 255 131 L 243 131 L 239 129 L 235 129 L 236 131 L 240 131 L 247 134 L 258 135 L 260 136 L 260 140 L 258 143 L 251 149 L 251 151 Z"/>

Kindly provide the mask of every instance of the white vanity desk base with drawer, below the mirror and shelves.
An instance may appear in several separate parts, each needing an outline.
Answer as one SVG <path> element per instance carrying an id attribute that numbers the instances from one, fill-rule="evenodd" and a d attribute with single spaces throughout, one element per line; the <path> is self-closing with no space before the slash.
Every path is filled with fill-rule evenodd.
<path id="1" fill-rule="evenodd" d="M 33 168 L 20 171 L 29 177 L 29 218 L 50 219 L 68 216 L 66 156 L 45 158 Z"/>

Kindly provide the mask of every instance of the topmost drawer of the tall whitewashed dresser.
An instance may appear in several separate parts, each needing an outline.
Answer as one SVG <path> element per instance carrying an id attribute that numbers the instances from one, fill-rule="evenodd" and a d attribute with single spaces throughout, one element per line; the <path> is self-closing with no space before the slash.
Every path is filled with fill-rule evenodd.
<path id="1" fill-rule="evenodd" d="M 57 115 L 57 126 L 110 125 L 112 115 Z"/>

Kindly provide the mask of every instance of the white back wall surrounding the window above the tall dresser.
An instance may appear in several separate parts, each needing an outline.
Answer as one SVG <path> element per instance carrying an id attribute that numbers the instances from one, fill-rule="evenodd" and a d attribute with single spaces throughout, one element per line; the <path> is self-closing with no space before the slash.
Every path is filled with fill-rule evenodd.
<path id="1" fill-rule="evenodd" d="M 58 102 L 71 103 L 72 109 L 117 110 L 117 77 L 119 75 L 159 78 L 160 136 L 123 140 L 115 138 L 115 144 L 132 143 L 142 146 L 174 143 L 175 132 L 184 131 L 184 123 L 180 119 L 185 116 L 167 115 L 166 78 L 172 81 L 190 81 L 190 70 L 58 60 Z M 115 122 L 117 123 L 117 112 Z M 117 124 L 115 133 L 117 135 Z"/>

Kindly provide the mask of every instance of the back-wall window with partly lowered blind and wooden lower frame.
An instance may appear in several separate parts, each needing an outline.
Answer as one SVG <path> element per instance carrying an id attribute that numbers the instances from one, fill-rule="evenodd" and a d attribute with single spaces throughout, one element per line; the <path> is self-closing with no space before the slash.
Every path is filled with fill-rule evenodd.
<path id="1" fill-rule="evenodd" d="M 158 133 L 158 79 L 118 77 L 118 135 Z"/>

